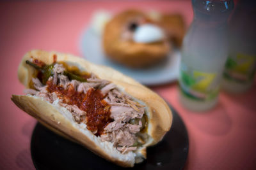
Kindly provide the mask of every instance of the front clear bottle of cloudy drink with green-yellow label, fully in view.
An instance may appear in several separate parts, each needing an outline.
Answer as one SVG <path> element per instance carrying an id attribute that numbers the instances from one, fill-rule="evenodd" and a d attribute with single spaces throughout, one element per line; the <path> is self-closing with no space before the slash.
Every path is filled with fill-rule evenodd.
<path id="1" fill-rule="evenodd" d="M 227 60 L 227 19 L 232 0 L 192 0 L 194 20 L 183 45 L 180 63 L 180 101 L 189 110 L 204 111 L 218 101 Z"/>

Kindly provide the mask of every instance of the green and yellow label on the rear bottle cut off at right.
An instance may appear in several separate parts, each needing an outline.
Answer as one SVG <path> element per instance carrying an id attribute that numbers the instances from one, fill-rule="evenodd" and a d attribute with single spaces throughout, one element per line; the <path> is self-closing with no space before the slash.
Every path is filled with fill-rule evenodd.
<path id="1" fill-rule="evenodd" d="M 229 55 L 223 72 L 224 78 L 239 83 L 253 80 L 256 68 L 256 56 L 237 53 Z"/>

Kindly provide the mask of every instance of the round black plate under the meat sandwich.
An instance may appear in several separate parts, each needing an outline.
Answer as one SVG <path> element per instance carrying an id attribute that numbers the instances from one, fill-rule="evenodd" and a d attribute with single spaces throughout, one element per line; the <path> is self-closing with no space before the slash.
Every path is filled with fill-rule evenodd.
<path id="1" fill-rule="evenodd" d="M 188 133 L 176 111 L 164 139 L 147 149 L 147 160 L 133 169 L 182 169 L 188 156 Z M 36 169 L 122 169 L 83 146 L 68 141 L 36 124 L 31 139 L 31 157 Z M 126 168 L 127 169 L 127 168 Z"/>

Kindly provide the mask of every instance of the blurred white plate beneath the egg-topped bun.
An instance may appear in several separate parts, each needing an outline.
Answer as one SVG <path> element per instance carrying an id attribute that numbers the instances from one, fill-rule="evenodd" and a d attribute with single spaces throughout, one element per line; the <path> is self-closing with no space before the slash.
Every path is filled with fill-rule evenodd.
<path id="1" fill-rule="evenodd" d="M 95 64 L 113 67 L 121 73 L 134 78 L 144 85 L 159 85 L 177 80 L 179 75 L 180 51 L 170 53 L 163 62 L 147 69 L 131 69 L 117 64 L 105 57 L 101 37 L 91 28 L 84 31 L 81 39 L 81 52 L 86 60 Z"/>

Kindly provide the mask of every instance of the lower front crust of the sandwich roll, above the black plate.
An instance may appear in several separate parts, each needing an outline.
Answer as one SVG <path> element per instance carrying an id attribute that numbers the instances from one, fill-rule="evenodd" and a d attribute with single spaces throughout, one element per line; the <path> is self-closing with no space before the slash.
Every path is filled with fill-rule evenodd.
<path id="1" fill-rule="evenodd" d="M 52 106 L 52 104 L 49 104 L 47 101 L 44 101 L 39 97 L 15 95 L 12 96 L 12 101 L 19 106 L 20 109 L 40 120 L 46 127 L 50 127 L 51 130 L 54 129 L 54 132 L 61 135 L 65 134 L 66 138 L 86 146 L 92 150 L 92 152 L 107 160 L 115 162 L 115 164 L 124 167 L 133 166 L 134 160 L 127 159 L 129 161 L 124 161 L 122 160 L 124 158 L 114 158 L 113 155 L 107 152 L 108 150 L 102 149 L 92 140 L 92 138 L 84 135 L 83 132 L 74 127 L 74 125 L 60 113 L 60 110 Z"/>

